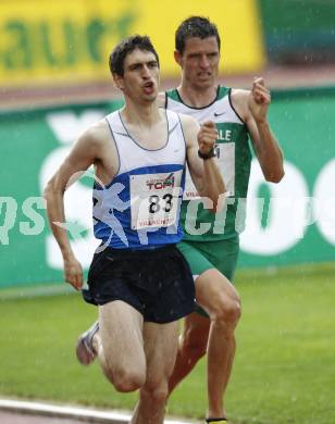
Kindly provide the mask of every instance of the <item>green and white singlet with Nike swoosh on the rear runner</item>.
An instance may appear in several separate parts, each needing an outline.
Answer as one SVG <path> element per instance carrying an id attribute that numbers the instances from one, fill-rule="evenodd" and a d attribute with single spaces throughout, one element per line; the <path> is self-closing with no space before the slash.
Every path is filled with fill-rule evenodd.
<path id="1" fill-rule="evenodd" d="M 199 198 L 187 173 L 181 210 L 184 240 L 219 241 L 238 236 L 245 227 L 251 147 L 247 126 L 232 105 L 231 88 L 219 86 L 215 100 L 204 108 L 188 107 L 178 91 L 172 89 L 166 91 L 165 108 L 194 116 L 200 124 L 204 121 L 216 124 L 216 154 L 227 190 L 225 208 L 214 214 Z"/>

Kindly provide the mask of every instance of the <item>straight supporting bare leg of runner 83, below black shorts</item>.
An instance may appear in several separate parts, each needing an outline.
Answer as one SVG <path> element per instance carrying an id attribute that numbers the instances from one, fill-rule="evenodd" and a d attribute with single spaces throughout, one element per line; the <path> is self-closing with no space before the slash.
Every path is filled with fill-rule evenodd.
<path id="1" fill-rule="evenodd" d="M 178 324 L 145 323 L 147 379 L 131 424 L 163 424 L 169 378 L 177 352 Z"/>

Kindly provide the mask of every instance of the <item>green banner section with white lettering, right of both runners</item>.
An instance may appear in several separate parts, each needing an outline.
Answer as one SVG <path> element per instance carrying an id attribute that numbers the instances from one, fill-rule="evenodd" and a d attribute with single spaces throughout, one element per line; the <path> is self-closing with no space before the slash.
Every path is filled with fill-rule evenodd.
<path id="1" fill-rule="evenodd" d="M 269 184 L 253 160 L 241 234 L 243 266 L 334 260 L 335 87 L 272 91 L 271 126 L 285 176 Z"/>

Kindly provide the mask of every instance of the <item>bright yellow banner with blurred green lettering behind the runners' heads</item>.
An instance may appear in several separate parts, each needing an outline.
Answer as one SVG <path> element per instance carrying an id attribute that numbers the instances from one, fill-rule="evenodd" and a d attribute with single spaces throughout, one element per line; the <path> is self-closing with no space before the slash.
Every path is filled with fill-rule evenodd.
<path id="1" fill-rule="evenodd" d="M 264 63 L 256 0 L 12 0 L 0 2 L 0 85 L 108 79 L 108 57 L 131 34 L 148 34 L 173 76 L 174 32 L 191 14 L 212 18 L 223 41 L 225 72 L 253 72 Z M 243 28 L 239 30 L 238 28 Z"/>

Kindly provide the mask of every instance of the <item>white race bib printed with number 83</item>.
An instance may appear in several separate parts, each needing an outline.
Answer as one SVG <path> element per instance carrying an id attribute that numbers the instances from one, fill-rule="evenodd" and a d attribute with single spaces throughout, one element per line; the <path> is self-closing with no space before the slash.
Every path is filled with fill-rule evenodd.
<path id="1" fill-rule="evenodd" d="M 183 171 L 131 176 L 132 228 L 167 227 L 177 219 Z"/>

